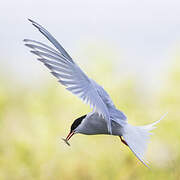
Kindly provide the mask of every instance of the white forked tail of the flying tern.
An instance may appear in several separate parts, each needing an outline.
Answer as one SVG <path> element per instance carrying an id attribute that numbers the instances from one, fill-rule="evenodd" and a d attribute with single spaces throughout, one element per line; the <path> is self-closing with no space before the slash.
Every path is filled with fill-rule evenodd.
<path id="1" fill-rule="evenodd" d="M 144 159 L 144 153 L 146 152 L 147 144 L 152 134 L 150 131 L 156 128 L 155 125 L 159 123 L 166 114 L 164 114 L 160 120 L 146 126 L 132 126 L 127 124 L 124 127 L 124 140 L 136 157 L 147 167 L 149 166 L 148 162 Z"/>

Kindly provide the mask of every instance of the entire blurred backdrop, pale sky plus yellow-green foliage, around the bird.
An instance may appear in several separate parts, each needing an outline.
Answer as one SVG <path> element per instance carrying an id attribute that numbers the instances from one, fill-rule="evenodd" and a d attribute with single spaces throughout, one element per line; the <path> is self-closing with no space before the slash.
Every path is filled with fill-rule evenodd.
<path id="1" fill-rule="evenodd" d="M 100 2 L 3 2 L 0 180 L 180 179 L 180 3 Z M 42 39 L 27 17 L 71 49 L 129 123 L 168 112 L 148 146 L 150 169 L 114 136 L 75 135 L 64 144 L 72 121 L 90 109 L 24 47 L 24 38 Z"/>

